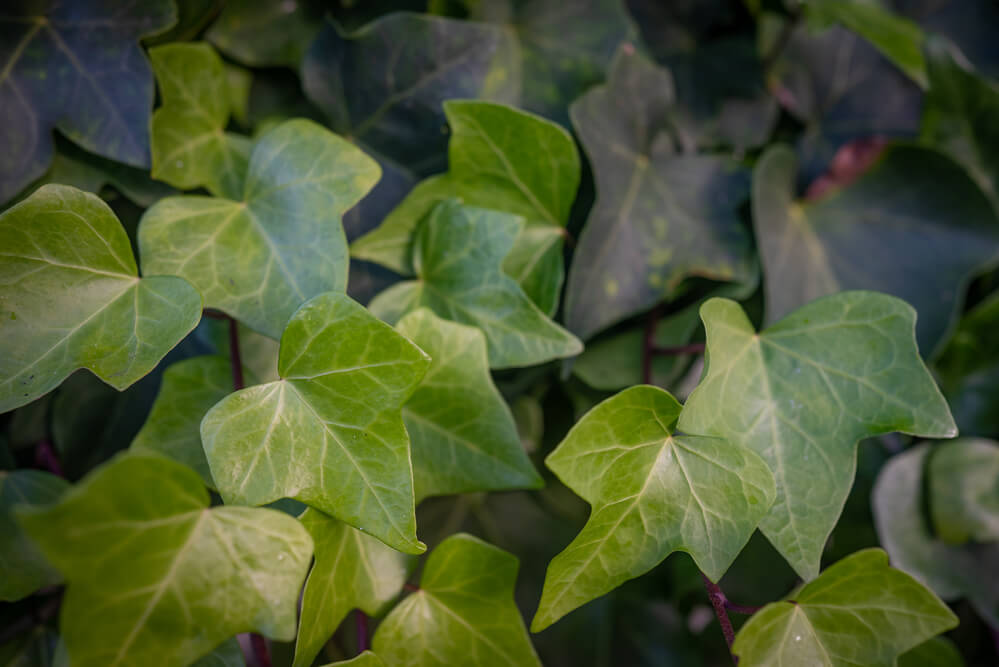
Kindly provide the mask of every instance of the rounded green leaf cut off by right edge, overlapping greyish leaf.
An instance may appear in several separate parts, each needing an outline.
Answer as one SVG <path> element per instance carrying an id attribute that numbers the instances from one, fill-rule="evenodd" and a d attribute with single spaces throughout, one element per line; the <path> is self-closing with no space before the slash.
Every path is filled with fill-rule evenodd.
<path id="1" fill-rule="evenodd" d="M 930 457 L 930 515 L 951 544 L 999 542 L 999 446 L 991 440 L 941 443 Z"/>

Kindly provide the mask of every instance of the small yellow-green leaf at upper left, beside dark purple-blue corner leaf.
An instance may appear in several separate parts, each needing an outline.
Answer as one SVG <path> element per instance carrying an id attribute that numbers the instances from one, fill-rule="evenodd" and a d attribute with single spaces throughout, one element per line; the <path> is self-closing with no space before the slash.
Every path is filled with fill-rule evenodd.
<path id="1" fill-rule="evenodd" d="M 149 57 L 163 100 L 150 126 L 153 177 L 241 198 L 251 143 L 225 132 L 231 108 L 222 59 L 208 44 L 167 44 Z"/>

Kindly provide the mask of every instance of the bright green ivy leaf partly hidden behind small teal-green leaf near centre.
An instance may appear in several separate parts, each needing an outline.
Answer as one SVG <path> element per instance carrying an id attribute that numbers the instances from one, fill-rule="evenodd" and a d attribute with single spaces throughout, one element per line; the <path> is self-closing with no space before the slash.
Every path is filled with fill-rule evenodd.
<path id="1" fill-rule="evenodd" d="M 563 228 L 579 187 L 572 137 L 554 123 L 501 104 L 451 100 L 444 113 L 451 126 L 450 171 L 419 183 L 381 225 L 351 245 L 351 254 L 412 275 L 415 230 L 438 202 L 456 197 L 520 215 L 526 225 L 503 269 L 552 315 L 565 272 Z"/>

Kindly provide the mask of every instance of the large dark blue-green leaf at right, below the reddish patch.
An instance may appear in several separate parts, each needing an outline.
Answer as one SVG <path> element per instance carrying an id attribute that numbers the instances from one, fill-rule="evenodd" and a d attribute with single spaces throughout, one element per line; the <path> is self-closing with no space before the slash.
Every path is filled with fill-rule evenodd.
<path id="1" fill-rule="evenodd" d="M 794 200 L 796 168 L 791 150 L 775 146 L 753 175 L 767 320 L 840 290 L 878 290 L 916 308 L 919 347 L 931 354 L 971 276 L 999 257 L 988 200 L 957 164 L 915 146 L 889 148 L 859 179 L 817 201 Z"/>

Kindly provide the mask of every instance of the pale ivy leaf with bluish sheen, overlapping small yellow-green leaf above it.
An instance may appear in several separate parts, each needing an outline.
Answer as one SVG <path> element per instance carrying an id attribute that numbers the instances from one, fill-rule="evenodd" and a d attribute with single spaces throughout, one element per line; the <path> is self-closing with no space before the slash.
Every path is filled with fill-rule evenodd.
<path id="1" fill-rule="evenodd" d="M 281 123 L 253 147 L 242 201 L 168 197 L 146 211 L 143 267 L 186 278 L 206 306 L 278 338 L 302 303 L 346 288 L 340 216 L 378 176 L 374 160 L 325 128 Z"/>

